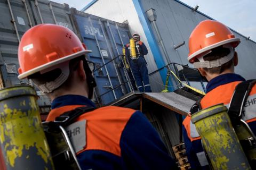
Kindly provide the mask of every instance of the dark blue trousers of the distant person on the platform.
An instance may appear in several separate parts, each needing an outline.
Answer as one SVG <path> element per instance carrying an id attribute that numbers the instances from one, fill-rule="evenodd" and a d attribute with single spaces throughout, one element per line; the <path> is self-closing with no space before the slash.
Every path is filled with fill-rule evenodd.
<path id="1" fill-rule="evenodd" d="M 140 92 L 151 92 L 148 69 L 144 57 L 140 56 L 136 61 L 131 60 L 131 69 Z"/>

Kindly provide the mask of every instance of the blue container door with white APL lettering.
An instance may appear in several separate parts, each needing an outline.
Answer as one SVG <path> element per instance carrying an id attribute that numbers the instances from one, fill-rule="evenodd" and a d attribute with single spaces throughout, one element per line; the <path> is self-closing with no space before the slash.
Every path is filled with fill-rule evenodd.
<path id="1" fill-rule="evenodd" d="M 113 62 L 110 62 L 111 52 L 108 48 L 108 38 L 105 32 L 102 32 L 99 18 L 75 15 L 75 19 L 85 45 L 92 50 L 89 60 L 94 62 L 97 67 L 97 71 L 94 72 L 97 82 L 97 97 L 103 105 L 106 105 L 123 96 L 115 67 Z"/>

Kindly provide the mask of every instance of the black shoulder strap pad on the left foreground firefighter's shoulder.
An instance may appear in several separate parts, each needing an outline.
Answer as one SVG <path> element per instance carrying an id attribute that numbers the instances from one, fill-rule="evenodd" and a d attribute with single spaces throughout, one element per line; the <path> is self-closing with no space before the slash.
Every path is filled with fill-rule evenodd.
<path id="1" fill-rule="evenodd" d="M 80 115 L 93 111 L 95 108 L 92 106 L 89 107 L 77 107 L 72 111 L 65 112 L 61 114 L 59 117 L 55 118 L 55 123 L 58 123 L 61 126 L 69 125 L 75 118 L 79 117 Z"/>

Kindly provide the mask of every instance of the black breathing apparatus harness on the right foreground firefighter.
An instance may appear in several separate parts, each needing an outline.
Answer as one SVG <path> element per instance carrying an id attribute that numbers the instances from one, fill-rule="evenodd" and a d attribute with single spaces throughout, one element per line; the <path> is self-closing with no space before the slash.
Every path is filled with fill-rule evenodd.
<path id="1" fill-rule="evenodd" d="M 244 103 L 247 100 L 250 91 L 252 90 L 252 87 L 254 86 L 255 83 L 256 80 L 254 79 L 243 81 L 237 84 L 234 90 L 234 94 L 230 100 L 230 105 L 228 109 L 228 115 L 230 117 L 231 123 L 235 129 L 237 137 L 252 168 L 256 167 L 256 138 L 249 125 L 242 120 L 242 116 Z M 191 115 L 202 110 L 200 102 L 201 100 L 198 100 L 191 107 Z M 244 133 L 246 133 L 247 135 L 245 135 Z M 209 157 L 207 157 L 206 152 L 205 154 L 210 164 Z"/>

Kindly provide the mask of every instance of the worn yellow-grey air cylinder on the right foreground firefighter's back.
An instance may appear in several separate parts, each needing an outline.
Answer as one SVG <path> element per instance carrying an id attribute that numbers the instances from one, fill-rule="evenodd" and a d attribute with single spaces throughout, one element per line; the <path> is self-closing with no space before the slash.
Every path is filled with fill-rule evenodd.
<path id="1" fill-rule="evenodd" d="M 213 169 L 251 169 L 223 104 L 191 116 Z"/>

